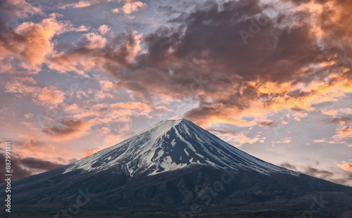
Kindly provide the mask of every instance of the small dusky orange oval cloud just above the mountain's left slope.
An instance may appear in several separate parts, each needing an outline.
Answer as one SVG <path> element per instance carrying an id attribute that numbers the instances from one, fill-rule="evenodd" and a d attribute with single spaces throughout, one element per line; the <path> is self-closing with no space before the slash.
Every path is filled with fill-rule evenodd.
<path id="1" fill-rule="evenodd" d="M 62 120 L 61 126 L 49 126 L 42 129 L 46 135 L 57 140 L 77 139 L 87 133 L 91 125 L 82 120 Z"/>

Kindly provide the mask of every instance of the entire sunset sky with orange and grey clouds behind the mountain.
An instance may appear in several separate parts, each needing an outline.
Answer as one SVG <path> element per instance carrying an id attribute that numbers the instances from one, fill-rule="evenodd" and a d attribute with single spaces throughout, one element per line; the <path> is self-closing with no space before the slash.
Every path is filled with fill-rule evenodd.
<path id="1" fill-rule="evenodd" d="M 351 0 L 1 1 L 1 175 L 6 141 L 20 179 L 184 118 L 352 186 L 351 10 Z"/>

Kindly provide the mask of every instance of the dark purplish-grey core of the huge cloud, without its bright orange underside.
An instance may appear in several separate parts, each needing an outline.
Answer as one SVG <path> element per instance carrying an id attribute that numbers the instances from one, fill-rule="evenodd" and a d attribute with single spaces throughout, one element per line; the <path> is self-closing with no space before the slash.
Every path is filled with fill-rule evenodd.
<path id="1" fill-rule="evenodd" d="M 161 27 L 146 35 L 148 52 L 137 57 L 134 73 L 122 77 L 123 81 L 132 82 L 133 78 L 136 82 L 132 75 L 137 74 L 140 84 L 149 82 L 151 86 L 158 84 L 158 88 L 182 92 L 184 87 L 177 84 L 191 84 L 191 73 L 211 77 L 221 85 L 226 78 L 228 86 L 237 82 L 239 77 L 234 75 L 286 80 L 318 59 L 322 51 L 310 25 L 277 28 L 275 20 L 263 13 L 270 6 L 258 3 L 229 1 L 220 10 L 218 4 L 207 1 L 194 13 L 172 20 L 177 27 Z M 258 25 L 260 20 L 265 25 Z M 256 27 L 256 34 L 245 44 L 239 32 Z M 158 79 L 153 82 L 151 77 Z"/>

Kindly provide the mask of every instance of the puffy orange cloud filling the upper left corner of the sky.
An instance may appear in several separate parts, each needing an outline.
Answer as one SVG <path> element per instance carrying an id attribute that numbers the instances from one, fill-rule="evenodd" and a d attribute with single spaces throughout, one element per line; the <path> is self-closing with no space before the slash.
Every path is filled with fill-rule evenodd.
<path id="1" fill-rule="evenodd" d="M 8 2 L 23 5 L 22 0 Z M 39 13 L 39 11 L 30 13 L 29 9 L 21 11 L 21 13 L 25 13 L 23 18 L 30 20 L 32 16 L 39 15 L 38 19 L 37 17 L 32 19 L 36 22 L 27 20 L 20 22 L 18 19 L 23 19 L 22 15 L 15 10 L 17 9 L 0 8 L 0 63 L 4 66 L 0 73 L 37 74 L 42 70 L 42 64 L 50 63 L 51 56 L 57 52 L 56 37 L 58 35 L 65 32 L 87 32 L 89 30 L 89 27 L 85 25 L 75 27 L 70 23 L 70 20 L 60 20 L 64 17 L 59 13 L 49 15 Z M 5 16 L 9 11 L 14 14 Z M 45 18 L 40 19 L 41 16 Z M 17 22 L 10 22 L 8 17 L 13 20 L 17 19 Z M 37 22 L 39 19 L 40 21 Z"/>

